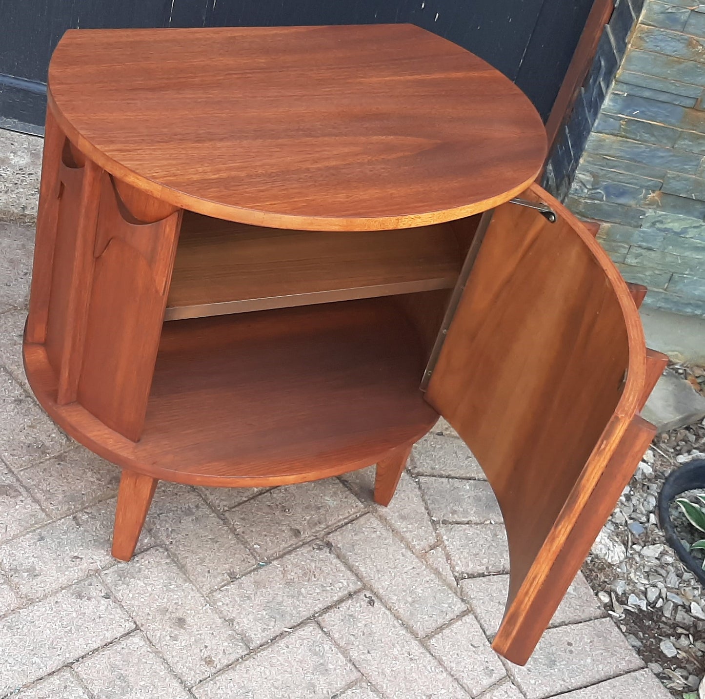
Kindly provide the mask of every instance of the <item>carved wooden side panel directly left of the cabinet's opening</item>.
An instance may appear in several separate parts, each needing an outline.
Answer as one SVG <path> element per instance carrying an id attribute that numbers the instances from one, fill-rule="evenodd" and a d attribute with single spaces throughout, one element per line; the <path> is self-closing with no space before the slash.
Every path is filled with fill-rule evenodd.
<path id="1" fill-rule="evenodd" d="M 180 212 L 151 224 L 125 220 L 104 175 L 78 401 L 137 441 L 159 348 Z"/>

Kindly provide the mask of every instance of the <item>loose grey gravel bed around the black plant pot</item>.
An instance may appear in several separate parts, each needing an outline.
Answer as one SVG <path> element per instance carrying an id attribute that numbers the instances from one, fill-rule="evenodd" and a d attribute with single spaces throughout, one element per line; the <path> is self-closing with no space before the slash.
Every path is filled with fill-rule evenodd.
<path id="1" fill-rule="evenodd" d="M 703 367 L 676 365 L 670 370 L 703 390 Z M 678 699 L 693 692 L 697 696 L 705 674 L 705 592 L 666 544 L 656 502 L 668 474 L 682 463 L 705 458 L 704 453 L 705 420 L 658 435 L 583 569 L 628 643 Z M 672 510 L 672 516 L 678 518 L 678 513 Z M 693 541 L 696 533 L 681 519 L 679 535 L 682 531 L 682 537 Z"/>

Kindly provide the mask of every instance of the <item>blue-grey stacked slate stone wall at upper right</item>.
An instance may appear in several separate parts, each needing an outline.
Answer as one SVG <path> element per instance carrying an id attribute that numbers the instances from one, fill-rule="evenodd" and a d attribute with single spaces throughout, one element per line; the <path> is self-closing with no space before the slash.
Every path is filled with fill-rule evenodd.
<path id="1" fill-rule="evenodd" d="M 646 0 L 566 203 L 604 221 L 601 243 L 649 287 L 646 305 L 705 316 L 705 1 Z"/>

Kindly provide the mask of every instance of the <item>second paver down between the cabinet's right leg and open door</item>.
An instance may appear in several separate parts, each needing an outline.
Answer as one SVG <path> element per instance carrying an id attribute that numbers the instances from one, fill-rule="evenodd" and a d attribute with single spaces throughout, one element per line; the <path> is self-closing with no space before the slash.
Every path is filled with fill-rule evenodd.
<path id="1" fill-rule="evenodd" d="M 431 517 L 444 522 L 502 521 L 502 513 L 489 483 L 460 478 L 419 478 Z"/>

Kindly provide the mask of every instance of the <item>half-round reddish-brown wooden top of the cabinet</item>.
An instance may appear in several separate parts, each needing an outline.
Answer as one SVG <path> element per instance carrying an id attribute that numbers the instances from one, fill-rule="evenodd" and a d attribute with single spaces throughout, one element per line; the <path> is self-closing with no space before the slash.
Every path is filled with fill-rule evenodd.
<path id="1" fill-rule="evenodd" d="M 49 108 L 130 185 L 287 229 L 465 217 L 525 190 L 546 154 L 508 78 L 413 25 L 71 30 Z"/>

